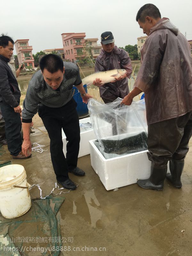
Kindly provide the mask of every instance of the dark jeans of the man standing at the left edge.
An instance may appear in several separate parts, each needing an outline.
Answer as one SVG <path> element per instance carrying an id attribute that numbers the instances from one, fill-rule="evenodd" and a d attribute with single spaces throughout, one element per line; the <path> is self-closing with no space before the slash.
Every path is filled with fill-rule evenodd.
<path id="1" fill-rule="evenodd" d="M 2 116 L 5 121 L 5 136 L 7 147 L 12 156 L 21 152 L 21 118 L 20 113 L 15 113 L 14 108 L 8 104 L 0 105 Z"/>

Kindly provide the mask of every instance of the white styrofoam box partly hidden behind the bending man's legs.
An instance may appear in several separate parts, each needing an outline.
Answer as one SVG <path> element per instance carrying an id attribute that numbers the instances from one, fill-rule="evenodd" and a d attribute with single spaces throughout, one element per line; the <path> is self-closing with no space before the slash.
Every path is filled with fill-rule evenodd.
<path id="1" fill-rule="evenodd" d="M 85 123 L 91 123 L 90 117 L 83 118 L 79 120 L 80 124 L 85 124 Z M 89 140 L 94 140 L 96 138 L 95 133 L 93 131 L 93 128 L 83 130 L 80 132 L 80 147 L 79 147 L 79 155 L 78 157 L 81 156 L 86 156 L 90 154 L 90 149 L 89 149 Z M 62 141 L 63 141 L 63 153 L 66 156 L 67 150 L 66 150 L 66 145 L 67 145 L 67 140 L 65 133 L 63 132 L 62 129 Z"/>

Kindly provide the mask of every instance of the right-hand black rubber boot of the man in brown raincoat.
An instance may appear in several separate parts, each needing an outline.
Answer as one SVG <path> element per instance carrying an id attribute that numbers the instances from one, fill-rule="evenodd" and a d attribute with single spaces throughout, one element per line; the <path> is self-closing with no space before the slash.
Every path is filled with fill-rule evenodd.
<path id="1" fill-rule="evenodd" d="M 181 188 L 181 174 L 184 168 L 184 160 L 170 160 L 169 169 L 171 173 L 167 173 L 166 178 L 173 184 L 176 188 Z"/>

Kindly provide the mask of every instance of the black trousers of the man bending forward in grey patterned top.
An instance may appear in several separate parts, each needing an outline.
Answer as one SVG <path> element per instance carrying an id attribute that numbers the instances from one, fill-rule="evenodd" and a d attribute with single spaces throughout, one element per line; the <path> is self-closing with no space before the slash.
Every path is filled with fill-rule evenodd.
<path id="1" fill-rule="evenodd" d="M 40 104 L 38 113 L 50 138 L 51 160 L 58 181 L 68 179 L 68 171 L 77 166 L 80 142 L 79 118 L 75 100 L 70 100 L 61 108 L 49 108 Z M 67 143 L 66 158 L 63 154 L 63 129 Z"/>

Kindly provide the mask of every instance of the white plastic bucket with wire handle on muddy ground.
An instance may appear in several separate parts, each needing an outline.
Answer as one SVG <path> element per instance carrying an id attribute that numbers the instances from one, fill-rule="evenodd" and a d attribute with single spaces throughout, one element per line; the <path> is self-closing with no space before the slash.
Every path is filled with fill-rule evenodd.
<path id="1" fill-rule="evenodd" d="M 0 168 L 0 211 L 4 218 L 17 218 L 31 207 L 26 172 L 20 164 Z M 18 188 L 18 187 L 23 188 Z"/>

